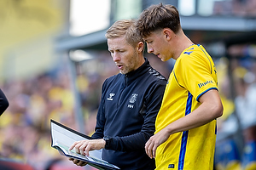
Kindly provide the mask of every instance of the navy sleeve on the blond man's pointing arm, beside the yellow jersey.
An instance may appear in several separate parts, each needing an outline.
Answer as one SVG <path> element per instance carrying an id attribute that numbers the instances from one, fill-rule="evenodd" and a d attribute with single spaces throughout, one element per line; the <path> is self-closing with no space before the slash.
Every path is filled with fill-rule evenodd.
<path id="1" fill-rule="evenodd" d="M 144 107 L 141 110 L 141 114 L 144 117 L 141 132 L 125 137 L 113 137 L 108 150 L 144 150 L 146 142 L 154 135 L 154 122 L 160 110 L 165 88 L 166 82 L 163 81 L 163 83 L 154 83 L 148 90 L 148 94 L 144 99 Z"/>

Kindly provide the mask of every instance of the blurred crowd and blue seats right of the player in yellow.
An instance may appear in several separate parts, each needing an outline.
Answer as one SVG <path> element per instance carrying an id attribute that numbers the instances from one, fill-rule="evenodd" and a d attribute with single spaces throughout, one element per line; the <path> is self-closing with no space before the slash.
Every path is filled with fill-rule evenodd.
<path id="1" fill-rule="evenodd" d="M 224 115 L 218 119 L 217 170 L 256 169 L 256 46 L 233 45 L 218 59 Z"/>

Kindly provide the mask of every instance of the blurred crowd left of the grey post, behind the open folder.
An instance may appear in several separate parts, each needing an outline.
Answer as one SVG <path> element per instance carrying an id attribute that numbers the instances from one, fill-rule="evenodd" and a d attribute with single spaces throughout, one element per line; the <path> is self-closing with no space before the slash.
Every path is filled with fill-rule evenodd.
<path id="1" fill-rule="evenodd" d="M 73 93 L 67 72 L 10 80 L 2 89 L 9 108 L 0 118 L 0 156 L 42 169 L 56 155 L 49 148 L 49 119 L 74 127 Z M 57 153 L 58 154 L 58 153 Z"/>

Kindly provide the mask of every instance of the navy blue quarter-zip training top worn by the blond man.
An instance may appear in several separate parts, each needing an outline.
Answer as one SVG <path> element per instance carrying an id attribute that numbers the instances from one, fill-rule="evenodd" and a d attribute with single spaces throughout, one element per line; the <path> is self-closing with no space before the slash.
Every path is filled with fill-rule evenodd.
<path id="1" fill-rule="evenodd" d="M 110 138 L 102 159 L 124 169 L 153 170 L 154 159 L 145 144 L 154 134 L 166 78 L 145 59 L 136 71 L 109 77 L 102 85 L 102 99 L 93 139 Z"/>

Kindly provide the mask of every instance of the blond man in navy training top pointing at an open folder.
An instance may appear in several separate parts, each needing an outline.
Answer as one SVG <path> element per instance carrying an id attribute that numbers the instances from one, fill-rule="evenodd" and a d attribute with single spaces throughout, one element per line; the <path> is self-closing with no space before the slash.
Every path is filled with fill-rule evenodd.
<path id="1" fill-rule="evenodd" d="M 93 139 L 75 142 L 70 150 L 88 156 L 90 150 L 103 149 L 102 159 L 122 170 L 153 170 L 154 160 L 144 145 L 154 134 L 166 78 L 143 57 L 143 38 L 135 24 L 135 20 L 119 20 L 108 29 L 108 51 L 119 74 L 102 85 Z"/>

